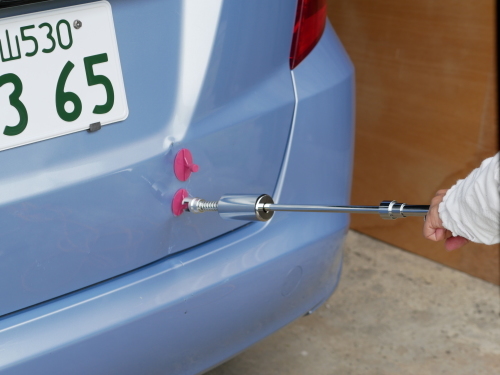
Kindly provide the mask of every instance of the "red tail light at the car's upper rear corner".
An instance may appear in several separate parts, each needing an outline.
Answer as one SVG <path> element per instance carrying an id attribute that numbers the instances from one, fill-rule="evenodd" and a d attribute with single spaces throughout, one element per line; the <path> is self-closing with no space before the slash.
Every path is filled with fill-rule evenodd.
<path id="1" fill-rule="evenodd" d="M 321 39 L 326 23 L 326 0 L 299 0 L 293 28 L 290 68 L 294 69 Z"/>

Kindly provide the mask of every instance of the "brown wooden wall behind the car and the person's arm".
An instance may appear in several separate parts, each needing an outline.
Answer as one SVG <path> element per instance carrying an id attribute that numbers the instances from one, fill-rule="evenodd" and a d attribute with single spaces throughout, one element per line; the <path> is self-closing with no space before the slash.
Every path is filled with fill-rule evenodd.
<path id="1" fill-rule="evenodd" d="M 329 0 L 356 67 L 353 204 L 428 204 L 496 153 L 494 0 Z M 498 246 L 448 253 L 421 218 L 353 215 L 352 228 L 493 283 Z"/>

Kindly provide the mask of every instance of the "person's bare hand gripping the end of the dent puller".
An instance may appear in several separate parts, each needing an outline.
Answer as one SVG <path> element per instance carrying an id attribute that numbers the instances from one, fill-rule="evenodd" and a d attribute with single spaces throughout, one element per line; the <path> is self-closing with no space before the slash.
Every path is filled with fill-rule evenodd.
<path id="1" fill-rule="evenodd" d="M 464 246 L 469 240 L 460 236 L 453 237 L 452 233 L 443 227 L 438 209 L 439 203 L 443 201 L 447 191 L 448 189 L 439 190 L 432 198 L 429 213 L 424 223 L 424 237 L 431 241 L 444 241 L 446 250 L 452 251 Z"/>

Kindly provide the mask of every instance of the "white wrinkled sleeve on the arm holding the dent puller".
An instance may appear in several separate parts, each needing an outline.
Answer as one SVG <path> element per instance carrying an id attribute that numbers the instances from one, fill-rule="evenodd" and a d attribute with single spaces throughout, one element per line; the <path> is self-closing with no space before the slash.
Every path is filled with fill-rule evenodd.
<path id="1" fill-rule="evenodd" d="M 500 242 L 500 152 L 486 159 L 464 180 L 458 180 L 439 204 L 443 226 L 473 242 Z"/>

